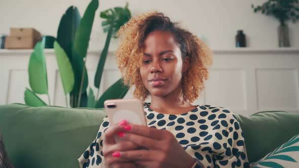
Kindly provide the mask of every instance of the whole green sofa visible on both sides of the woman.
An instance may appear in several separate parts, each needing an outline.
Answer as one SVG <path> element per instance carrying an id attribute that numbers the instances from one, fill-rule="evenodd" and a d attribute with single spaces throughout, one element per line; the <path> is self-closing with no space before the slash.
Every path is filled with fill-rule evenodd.
<path id="1" fill-rule="evenodd" d="M 77 158 L 97 135 L 103 109 L 0 106 L 0 133 L 15 167 L 79 167 Z M 283 111 L 237 115 L 249 162 L 299 134 L 299 114 Z"/>

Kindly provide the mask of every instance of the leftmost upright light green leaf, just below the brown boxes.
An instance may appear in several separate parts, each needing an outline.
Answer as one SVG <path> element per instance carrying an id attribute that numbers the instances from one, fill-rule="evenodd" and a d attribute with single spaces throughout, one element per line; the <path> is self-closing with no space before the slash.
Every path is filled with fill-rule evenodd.
<path id="1" fill-rule="evenodd" d="M 41 41 L 35 45 L 30 56 L 28 74 L 31 89 L 38 94 L 48 94 L 46 58 Z"/>

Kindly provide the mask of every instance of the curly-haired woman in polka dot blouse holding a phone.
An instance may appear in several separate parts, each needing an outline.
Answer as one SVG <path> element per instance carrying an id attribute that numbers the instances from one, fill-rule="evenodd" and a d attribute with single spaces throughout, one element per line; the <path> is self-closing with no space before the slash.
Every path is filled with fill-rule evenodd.
<path id="1" fill-rule="evenodd" d="M 135 98 L 151 97 L 144 103 L 148 127 L 105 118 L 81 167 L 249 167 L 233 112 L 191 104 L 208 79 L 209 48 L 157 12 L 132 18 L 118 35 L 124 83 L 135 86 Z M 115 143 L 115 135 L 126 141 Z"/>

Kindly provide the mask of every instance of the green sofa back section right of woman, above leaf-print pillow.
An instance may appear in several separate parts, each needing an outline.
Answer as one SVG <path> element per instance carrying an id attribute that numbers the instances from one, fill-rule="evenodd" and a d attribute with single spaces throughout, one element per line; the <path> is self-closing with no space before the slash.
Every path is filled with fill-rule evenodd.
<path id="1" fill-rule="evenodd" d="M 299 134 L 299 114 L 263 111 L 251 116 L 237 115 L 244 133 L 249 162 L 255 162 Z"/>

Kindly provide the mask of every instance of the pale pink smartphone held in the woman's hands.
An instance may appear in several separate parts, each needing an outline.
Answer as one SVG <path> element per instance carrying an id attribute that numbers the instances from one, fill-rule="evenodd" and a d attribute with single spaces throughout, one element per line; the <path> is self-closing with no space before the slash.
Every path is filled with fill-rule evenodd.
<path id="1" fill-rule="evenodd" d="M 110 99 L 104 102 L 104 106 L 110 125 L 126 119 L 130 123 L 147 126 L 142 102 L 138 99 Z M 122 139 L 115 136 L 115 141 Z"/>

